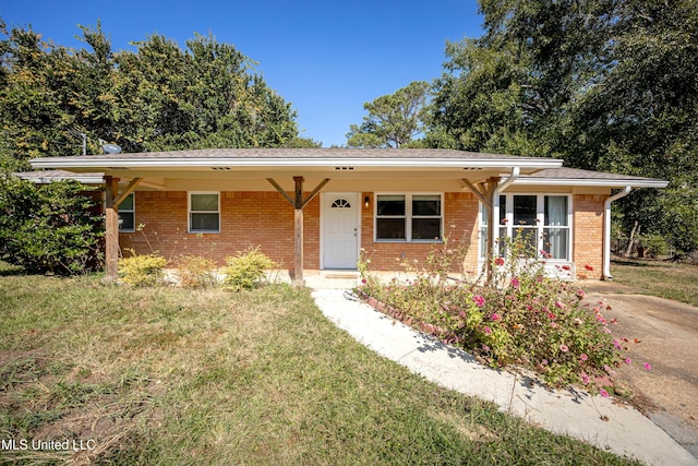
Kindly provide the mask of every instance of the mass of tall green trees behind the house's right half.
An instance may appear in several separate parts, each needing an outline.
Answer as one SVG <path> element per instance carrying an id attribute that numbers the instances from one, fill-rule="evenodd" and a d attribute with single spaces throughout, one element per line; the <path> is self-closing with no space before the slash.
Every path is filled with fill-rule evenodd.
<path id="1" fill-rule="evenodd" d="M 424 144 L 670 180 L 617 203 L 698 249 L 695 0 L 482 0 L 484 34 L 448 44 Z"/>

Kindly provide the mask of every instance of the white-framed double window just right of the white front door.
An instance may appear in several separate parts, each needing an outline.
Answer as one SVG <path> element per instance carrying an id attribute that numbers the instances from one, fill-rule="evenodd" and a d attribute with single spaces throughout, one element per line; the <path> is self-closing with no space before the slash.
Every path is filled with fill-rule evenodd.
<path id="1" fill-rule="evenodd" d="M 376 241 L 441 241 L 441 194 L 376 194 Z"/>

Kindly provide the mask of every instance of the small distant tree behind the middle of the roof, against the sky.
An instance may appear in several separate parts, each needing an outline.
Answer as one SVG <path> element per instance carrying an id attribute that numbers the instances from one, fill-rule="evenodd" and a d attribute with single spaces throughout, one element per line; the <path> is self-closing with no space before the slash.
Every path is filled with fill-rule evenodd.
<path id="1" fill-rule="evenodd" d="M 369 115 L 347 133 L 350 147 L 400 147 L 424 130 L 423 118 L 430 84 L 416 81 L 394 94 L 363 104 Z"/>

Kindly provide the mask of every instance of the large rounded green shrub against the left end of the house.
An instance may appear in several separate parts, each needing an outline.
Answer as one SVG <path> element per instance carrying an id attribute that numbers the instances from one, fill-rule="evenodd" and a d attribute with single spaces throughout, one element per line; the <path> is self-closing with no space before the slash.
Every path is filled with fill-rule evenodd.
<path id="1" fill-rule="evenodd" d="M 0 255 L 31 273 L 82 274 L 101 264 L 104 232 L 84 187 L 0 175 Z"/>

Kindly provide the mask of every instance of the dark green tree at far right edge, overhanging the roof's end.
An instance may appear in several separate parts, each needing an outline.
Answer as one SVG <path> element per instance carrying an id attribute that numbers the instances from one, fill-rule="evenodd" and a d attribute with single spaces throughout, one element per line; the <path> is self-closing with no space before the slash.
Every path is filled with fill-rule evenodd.
<path id="1" fill-rule="evenodd" d="M 698 249 L 698 2 L 626 0 L 614 12 L 613 48 L 571 109 L 576 140 L 594 168 L 670 180 L 621 203 L 678 251 Z"/>

